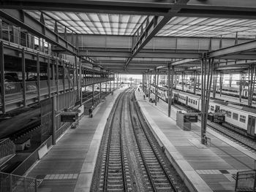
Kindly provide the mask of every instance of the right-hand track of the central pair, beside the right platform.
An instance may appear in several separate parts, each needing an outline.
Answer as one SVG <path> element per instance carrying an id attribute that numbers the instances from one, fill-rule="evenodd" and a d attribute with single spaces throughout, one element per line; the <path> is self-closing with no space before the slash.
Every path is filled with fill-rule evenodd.
<path id="1" fill-rule="evenodd" d="M 135 97 L 132 96 L 132 99 L 135 99 Z M 143 169 L 146 171 L 144 177 L 148 177 L 147 188 L 150 191 L 177 191 L 170 170 L 167 168 L 162 157 L 159 155 L 158 148 L 154 145 L 154 142 L 145 130 L 145 125 L 143 125 L 142 117 L 138 111 L 138 106 L 134 102 L 129 101 L 129 113 L 134 136 L 137 141 L 138 155 L 140 155 L 143 161 Z"/>

